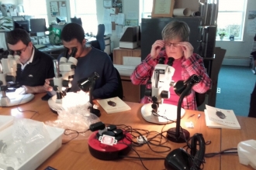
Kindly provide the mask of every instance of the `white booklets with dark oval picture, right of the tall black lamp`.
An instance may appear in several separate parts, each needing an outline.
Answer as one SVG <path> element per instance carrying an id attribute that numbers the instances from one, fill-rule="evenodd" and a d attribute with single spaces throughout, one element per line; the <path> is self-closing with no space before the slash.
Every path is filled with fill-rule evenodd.
<path id="1" fill-rule="evenodd" d="M 206 126 L 209 128 L 240 129 L 233 110 L 224 110 L 206 105 Z"/>

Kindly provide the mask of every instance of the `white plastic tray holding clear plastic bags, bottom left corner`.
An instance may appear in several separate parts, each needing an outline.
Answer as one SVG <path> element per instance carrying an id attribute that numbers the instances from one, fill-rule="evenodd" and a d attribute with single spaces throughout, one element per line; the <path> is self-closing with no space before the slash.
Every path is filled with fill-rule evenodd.
<path id="1" fill-rule="evenodd" d="M 53 155 L 55 151 L 61 148 L 62 145 L 62 134 L 64 133 L 64 129 L 62 128 L 54 128 L 48 125 L 45 125 L 48 133 L 50 134 L 50 142 L 45 145 L 43 148 L 38 149 L 34 152 L 30 158 L 23 162 L 22 165 L 19 165 L 19 170 L 28 170 L 28 169 L 36 169 L 39 165 L 41 165 L 50 155 Z M 4 141 L 5 138 L 10 138 L 12 134 L 13 125 L 9 126 L 9 128 L 5 128 L 3 131 L 0 131 L 0 139 Z M 1 162 L 2 165 L 4 165 Z"/>

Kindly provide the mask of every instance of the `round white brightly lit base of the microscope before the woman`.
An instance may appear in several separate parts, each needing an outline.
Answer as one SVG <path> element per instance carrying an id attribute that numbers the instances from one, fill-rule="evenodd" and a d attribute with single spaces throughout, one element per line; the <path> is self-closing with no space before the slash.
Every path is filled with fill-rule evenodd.
<path id="1" fill-rule="evenodd" d="M 141 115 L 142 117 L 144 117 L 146 121 L 154 124 L 168 124 L 168 123 L 171 123 L 172 121 L 176 121 L 177 106 L 171 105 L 171 104 L 159 104 L 157 114 L 159 114 L 160 116 L 154 116 L 154 114 L 152 114 L 151 104 L 144 104 L 144 106 L 141 107 Z M 181 117 L 183 117 L 184 115 L 185 115 L 185 110 L 182 108 Z M 167 117 L 168 120 L 171 120 L 171 121 L 168 121 L 164 117 Z"/>

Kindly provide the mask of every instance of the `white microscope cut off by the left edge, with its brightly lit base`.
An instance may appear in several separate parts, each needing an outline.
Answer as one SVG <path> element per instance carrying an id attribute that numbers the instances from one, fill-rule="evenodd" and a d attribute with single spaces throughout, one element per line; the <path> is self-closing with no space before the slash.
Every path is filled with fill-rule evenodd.
<path id="1" fill-rule="evenodd" d="M 25 104 L 33 99 L 34 95 L 31 93 L 26 94 L 9 94 L 6 95 L 6 91 L 10 87 L 10 84 L 16 83 L 16 71 L 20 69 L 19 55 L 17 53 L 13 56 L 10 53 L 7 59 L 1 59 L 0 64 L 0 90 L 2 91 L 2 97 L 0 100 L 0 107 L 11 107 L 18 104 Z"/>

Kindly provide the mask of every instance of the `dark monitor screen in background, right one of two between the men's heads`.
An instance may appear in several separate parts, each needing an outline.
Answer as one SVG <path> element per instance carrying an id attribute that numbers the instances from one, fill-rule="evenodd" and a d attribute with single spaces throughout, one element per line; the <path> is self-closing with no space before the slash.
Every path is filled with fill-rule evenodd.
<path id="1" fill-rule="evenodd" d="M 32 33 L 47 31 L 45 19 L 29 19 L 29 22 Z"/>

